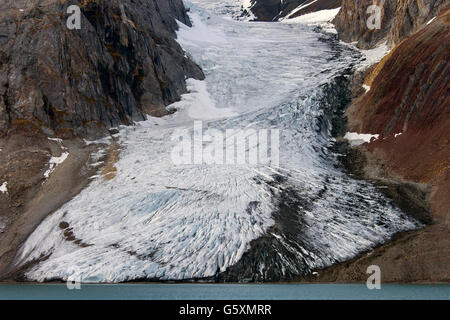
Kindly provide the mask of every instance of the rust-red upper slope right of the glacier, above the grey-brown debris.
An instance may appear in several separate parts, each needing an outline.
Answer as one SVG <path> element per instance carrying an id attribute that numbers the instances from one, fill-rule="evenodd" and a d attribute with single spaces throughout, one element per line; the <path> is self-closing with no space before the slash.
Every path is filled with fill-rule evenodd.
<path id="1" fill-rule="evenodd" d="M 367 149 L 379 154 L 390 171 L 417 183 L 447 181 L 447 188 L 449 49 L 447 10 L 380 62 L 367 76 L 371 89 L 347 112 L 350 131 L 380 134 Z M 446 201 L 443 207 L 448 210 L 448 199 L 441 200 Z M 446 214 L 444 211 L 435 208 L 436 213 Z"/>

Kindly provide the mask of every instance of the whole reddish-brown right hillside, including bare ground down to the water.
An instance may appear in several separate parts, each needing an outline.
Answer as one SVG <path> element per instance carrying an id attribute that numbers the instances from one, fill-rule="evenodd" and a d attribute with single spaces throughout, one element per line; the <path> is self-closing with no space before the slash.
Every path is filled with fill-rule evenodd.
<path id="1" fill-rule="evenodd" d="M 404 8 L 402 1 L 398 3 Z M 366 281 L 367 267 L 378 265 L 384 282 L 450 281 L 450 5 L 422 26 L 414 26 L 419 19 L 415 16 L 395 16 L 385 32 L 393 43 L 400 42 L 367 73 L 364 82 L 370 90 L 361 89 L 362 95 L 347 110 L 349 131 L 380 134 L 357 150 L 362 176 L 391 196 L 403 193 L 409 207 L 415 201 L 426 202 L 432 216 L 428 220 L 423 215 L 426 208 L 417 210 L 418 218 L 428 224 L 424 229 L 398 235 L 392 243 L 309 280 Z M 403 39 L 406 30 L 414 29 L 418 31 Z M 368 39 L 361 43 L 369 45 Z M 420 199 L 413 190 L 423 190 L 426 198 Z"/>

